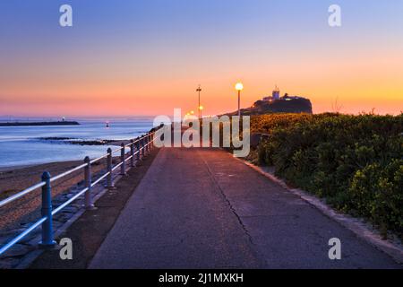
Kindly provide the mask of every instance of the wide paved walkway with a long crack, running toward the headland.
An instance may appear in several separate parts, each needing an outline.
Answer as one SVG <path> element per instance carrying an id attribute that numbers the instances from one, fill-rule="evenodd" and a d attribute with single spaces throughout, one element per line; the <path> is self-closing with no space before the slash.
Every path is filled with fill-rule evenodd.
<path id="1" fill-rule="evenodd" d="M 328 257 L 339 238 L 342 259 Z M 339 223 L 214 149 L 162 149 L 90 268 L 399 268 Z"/>

